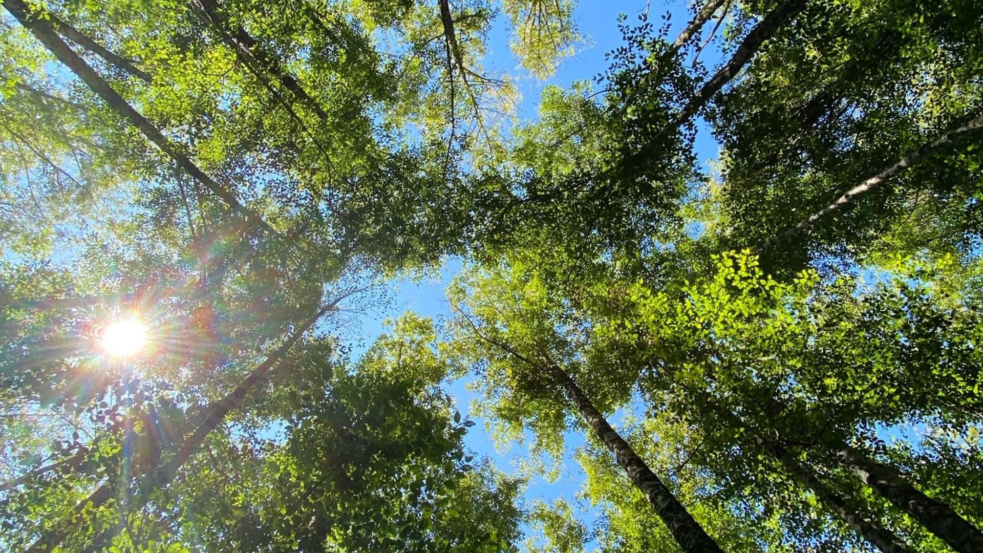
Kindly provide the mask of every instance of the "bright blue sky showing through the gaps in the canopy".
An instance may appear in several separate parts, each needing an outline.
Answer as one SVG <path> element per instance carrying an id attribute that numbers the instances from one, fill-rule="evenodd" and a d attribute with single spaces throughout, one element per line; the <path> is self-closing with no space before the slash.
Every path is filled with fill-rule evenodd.
<path id="1" fill-rule="evenodd" d="M 668 12 L 671 14 L 670 21 L 672 22 L 669 31 L 671 38 L 689 21 L 691 16 L 687 8 L 686 3 L 679 1 L 662 5 L 647 5 L 641 1 L 580 2 L 574 12 L 574 22 L 587 38 L 583 44 L 577 47 L 574 55 L 560 62 L 557 72 L 546 81 L 534 79 L 519 69 L 518 60 L 512 55 L 508 47 L 511 30 L 508 28 L 506 18 L 499 15 L 489 32 L 489 44 L 491 45 L 482 63 L 492 73 L 518 76 L 514 84 L 521 94 L 521 100 L 516 105 L 512 122 L 521 124 L 535 121 L 540 115 L 540 95 L 546 87 L 567 88 L 577 82 L 593 81 L 607 70 L 608 61 L 605 54 L 622 44 L 621 32 L 617 27 L 620 14 L 623 13 L 627 16 L 626 23 L 630 25 L 633 22 L 638 22 L 637 16 L 647 9 L 650 10 L 650 18 L 654 19 L 662 13 Z M 722 53 L 716 42 L 711 42 L 701 54 L 701 59 L 710 67 L 720 61 L 721 57 Z M 598 87 L 599 85 L 595 84 L 594 86 Z M 718 157 L 720 146 L 712 136 L 709 125 L 705 121 L 698 120 L 696 126 L 695 152 L 697 158 L 702 162 L 703 170 L 709 172 L 713 169 L 712 162 Z M 694 234 L 701 230 L 698 227 L 687 229 L 688 232 Z M 383 321 L 398 317 L 405 311 L 414 311 L 418 315 L 432 317 L 438 324 L 440 321 L 448 319 L 450 307 L 443 290 L 453 276 L 460 272 L 462 265 L 461 259 L 451 258 L 446 260 L 439 271 L 429 276 L 400 276 L 385 282 L 383 286 L 388 288 L 391 301 L 384 308 L 364 312 L 349 329 L 349 333 L 351 333 L 349 338 L 355 338 L 353 356 L 362 354 L 372 344 L 373 340 L 384 332 Z M 468 389 L 467 382 L 468 379 L 465 378 L 447 385 L 448 393 L 455 399 L 461 412 L 465 414 L 471 410 L 469 406 L 478 399 L 475 393 Z M 636 395 L 631 404 L 612 414 L 611 421 L 615 427 L 622 427 L 628 424 L 633 416 L 644 412 L 644 401 Z M 487 457 L 499 470 L 507 473 L 520 471 L 522 465 L 530 461 L 532 436 L 524 436 L 521 443 L 502 444 L 496 448 L 491 429 L 487 424 L 489 421 L 477 419 L 474 416 L 472 419 L 477 424 L 466 435 L 465 444 L 479 456 Z M 574 515 L 577 520 L 583 522 L 590 530 L 596 522 L 600 522 L 600 514 L 596 508 L 592 508 L 586 502 L 577 499 L 578 493 L 586 481 L 586 474 L 579 462 L 576 461 L 578 450 L 582 449 L 586 443 L 585 435 L 582 431 L 569 431 L 564 435 L 564 443 L 566 447 L 564 457 L 560 460 L 562 466 L 559 467 L 558 477 L 555 479 L 548 479 L 543 476 L 533 477 L 526 488 L 523 500 L 527 506 L 531 506 L 533 502 L 538 500 L 551 504 L 557 498 L 564 498 L 574 508 Z M 625 478 L 624 483 L 625 486 L 631 485 L 627 478 Z M 532 528 L 526 527 L 524 529 L 531 537 L 535 535 Z M 592 535 L 592 532 L 589 531 L 588 535 Z M 596 545 L 595 541 L 591 541 L 585 544 L 585 547 Z"/>

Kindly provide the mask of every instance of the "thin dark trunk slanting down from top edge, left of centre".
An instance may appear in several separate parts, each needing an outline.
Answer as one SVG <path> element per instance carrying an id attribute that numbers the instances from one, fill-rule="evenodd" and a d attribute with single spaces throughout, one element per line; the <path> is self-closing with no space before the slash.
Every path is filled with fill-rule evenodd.
<path id="1" fill-rule="evenodd" d="M 221 8 L 215 0 L 192 0 L 192 10 L 202 20 L 202 22 L 213 26 L 225 40 L 236 51 L 236 54 L 244 63 L 254 67 L 262 68 L 265 72 L 272 75 L 283 88 L 293 92 L 309 109 L 318 114 L 318 118 L 327 119 L 327 113 L 311 94 L 309 94 L 287 70 L 280 65 L 280 62 L 269 55 L 260 43 L 239 26 L 232 26 L 228 19 L 222 15 Z"/>

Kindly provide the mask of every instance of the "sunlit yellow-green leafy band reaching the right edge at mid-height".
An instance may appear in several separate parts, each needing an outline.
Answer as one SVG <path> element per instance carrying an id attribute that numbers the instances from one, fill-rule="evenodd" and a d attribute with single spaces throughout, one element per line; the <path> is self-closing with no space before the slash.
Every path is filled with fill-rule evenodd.
<path id="1" fill-rule="evenodd" d="M 773 390 L 777 397 L 762 399 L 780 403 L 822 398 L 823 416 L 832 404 L 849 405 L 837 416 L 854 424 L 978 412 L 979 306 L 944 308 L 902 282 L 857 285 L 845 276 L 821 285 L 810 273 L 782 283 L 755 258 L 724 254 L 717 275 L 684 287 L 681 298 L 636 285 L 636 311 L 622 325 L 640 325 L 636 355 L 665 363 L 653 367 L 665 376 L 652 376 L 666 385 L 711 382 L 741 396 Z"/>

